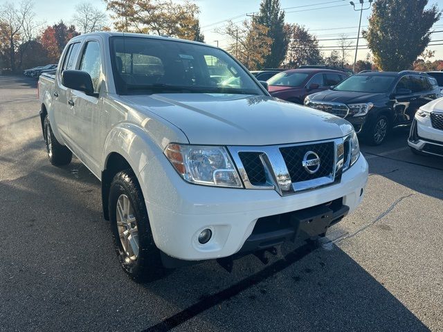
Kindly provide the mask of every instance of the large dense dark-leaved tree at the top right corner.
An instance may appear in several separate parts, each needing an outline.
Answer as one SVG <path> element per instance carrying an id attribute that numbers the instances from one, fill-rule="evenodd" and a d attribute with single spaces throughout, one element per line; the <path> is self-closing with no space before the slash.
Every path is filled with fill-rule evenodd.
<path id="1" fill-rule="evenodd" d="M 431 40 L 430 29 L 440 19 L 437 6 L 425 10 L 428 0 L 377 0 L 363 37 L 383 71 L 410 68 Z"/>

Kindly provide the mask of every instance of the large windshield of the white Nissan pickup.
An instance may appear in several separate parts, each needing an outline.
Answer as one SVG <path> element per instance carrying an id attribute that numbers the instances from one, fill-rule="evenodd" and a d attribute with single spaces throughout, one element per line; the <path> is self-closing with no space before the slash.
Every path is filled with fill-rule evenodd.
<path id="1" fill-rule="evenodd" d="M 142 37 L 111 37 L 111 62 L 120 95 L 232 93 L 263 95 L 223 50 Z"/>

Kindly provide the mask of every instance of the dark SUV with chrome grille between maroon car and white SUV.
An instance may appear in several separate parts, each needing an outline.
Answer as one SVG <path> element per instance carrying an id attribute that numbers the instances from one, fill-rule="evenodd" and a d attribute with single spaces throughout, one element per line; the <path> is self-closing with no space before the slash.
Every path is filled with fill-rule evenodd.
<path id="1" fill-rule="evenodd" d="M 305 98 L 305 105 L 345 118 L 370 145 L 392 127 L 410 124 L 422 105 L 440 98 L 435 78 L 417 71 L 359 73 Z"/>

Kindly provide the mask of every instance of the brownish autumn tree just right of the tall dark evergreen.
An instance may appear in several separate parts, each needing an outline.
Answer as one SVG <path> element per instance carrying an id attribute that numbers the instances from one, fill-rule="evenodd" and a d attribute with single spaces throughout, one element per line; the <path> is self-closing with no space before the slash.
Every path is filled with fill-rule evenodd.
<path id="1" fill-rule="evenodd" d="M 323 57 L 320 54 L 317 38 L 311 35 L 304 26 L 298 24 L 293 24 L 288 29 L 291 33 L 291 41 L 286 66 L 296 68 L 303 64 L 321 64 Z"/>

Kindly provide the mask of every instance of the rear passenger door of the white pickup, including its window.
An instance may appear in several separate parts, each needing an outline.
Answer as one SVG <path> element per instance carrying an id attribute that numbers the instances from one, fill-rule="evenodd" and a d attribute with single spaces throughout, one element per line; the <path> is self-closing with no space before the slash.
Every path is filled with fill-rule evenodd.
<path id="1" fill-rule="evenodd" d="M 63 139 L 69 138 L 69 111 L 68 111 L 68 94 L 69 89 L 62 84 L 62 73 L 66 69 L 73 69 L 75 66 L 75 59 L 78 55 L 78 49 L 80 48 L 80 42 L 70 44 L 66 47 L 63 54 L 63 60 L 60 64 L 60 70 L 55 75 L 54 91 L 53 91 L 53 111 L 54 120 L 57 125 L 57 130 Z M 69 139 L 68 139 L 69 140 Z"/>

